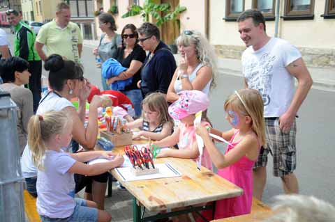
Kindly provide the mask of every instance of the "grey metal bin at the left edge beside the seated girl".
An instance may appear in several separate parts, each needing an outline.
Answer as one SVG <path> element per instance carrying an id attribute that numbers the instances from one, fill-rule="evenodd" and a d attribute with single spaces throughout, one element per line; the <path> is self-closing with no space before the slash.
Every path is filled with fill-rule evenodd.
<path id="1" fill-rule="evenodd" d="M 0 221 L 24 221 L 16 104 L 0 89 Z"/>

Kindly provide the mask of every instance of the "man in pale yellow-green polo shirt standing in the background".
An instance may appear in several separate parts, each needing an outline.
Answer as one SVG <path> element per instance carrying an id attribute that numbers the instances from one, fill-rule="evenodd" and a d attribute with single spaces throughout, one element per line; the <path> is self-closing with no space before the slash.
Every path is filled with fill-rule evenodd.
<path id="1" fill-rule="evenodd" d="M 43 25 L 38 32 L 35 48 L 43 61 L 51 54 L 59 54 L 66 59 L 80 62 L 82 54 L 82 33 L 77 24 L 70 22 L 70 6 L 61 2 L 57 5 L 56 18 Z M 47 55 L 43 46 L 47 47 Z"/>

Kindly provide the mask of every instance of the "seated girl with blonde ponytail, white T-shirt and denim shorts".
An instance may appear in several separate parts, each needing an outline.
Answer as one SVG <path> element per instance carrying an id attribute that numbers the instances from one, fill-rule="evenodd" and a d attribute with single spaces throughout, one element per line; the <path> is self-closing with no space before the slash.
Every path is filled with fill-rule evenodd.
<path id="1" fill-rule="evenodd" d="M 38 168 L 37 210 L 42 221 L 110 221 L 108 212 L 96 209 L 93 201 L 75 198 L 74 173 L 98 175 L 121 165 L 121 155 L 92 151 L 70 154 L 62 148 L 72 139 L 73 120 L 65 111 L 48 111 L 34 115 L 28 123 L 28 145 L 32 161 Z M 84 164 L 105 157 L 105 163 Z"/>

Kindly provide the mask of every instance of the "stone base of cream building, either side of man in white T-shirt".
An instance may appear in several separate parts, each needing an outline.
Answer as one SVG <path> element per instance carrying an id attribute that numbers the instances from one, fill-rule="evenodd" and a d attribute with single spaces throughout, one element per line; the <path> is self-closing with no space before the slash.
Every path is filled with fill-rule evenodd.
<path id="1" fill-rule="evenodd" d="M 241 59 L 246 47 L 238 45 L 214 45 L 216 54 L 222 58 Z M 335 49 L 298 47 L 307 66 L 335 68 Z"/>

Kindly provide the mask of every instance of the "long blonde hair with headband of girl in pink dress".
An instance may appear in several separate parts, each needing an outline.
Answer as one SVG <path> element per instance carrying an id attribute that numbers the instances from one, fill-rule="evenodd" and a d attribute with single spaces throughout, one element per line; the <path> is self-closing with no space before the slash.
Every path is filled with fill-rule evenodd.
<path id="1" fill-rule="evenodd" d="M 241 98 L 239 98 L 239 96 Z M 246 88 L 238 90 L 225 101 L 225 111 L 232 109 L 251 117 L 253 132 L 257 134 L 260 144 L 266 147 L 264 103 L 258 90 Z"/>

